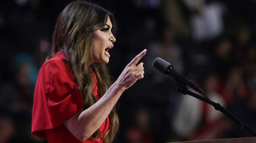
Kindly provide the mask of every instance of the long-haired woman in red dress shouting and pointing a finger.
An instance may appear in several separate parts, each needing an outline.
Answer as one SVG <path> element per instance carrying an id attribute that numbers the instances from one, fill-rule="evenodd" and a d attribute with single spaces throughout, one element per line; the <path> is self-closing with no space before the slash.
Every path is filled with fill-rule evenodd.
<path id="1" fill-rule="evenodd" d="M 115 104 L 144 77 L 140 52 L 111 85 L 106 63 L 114 15 L 85 1 L 60 13 L 53 45 L 39 71 L 32 110 L 32 134 L 49 143 L 111 143 L 118 130 Z M 138 65 L 137 65 L 138 64 Z"/>

